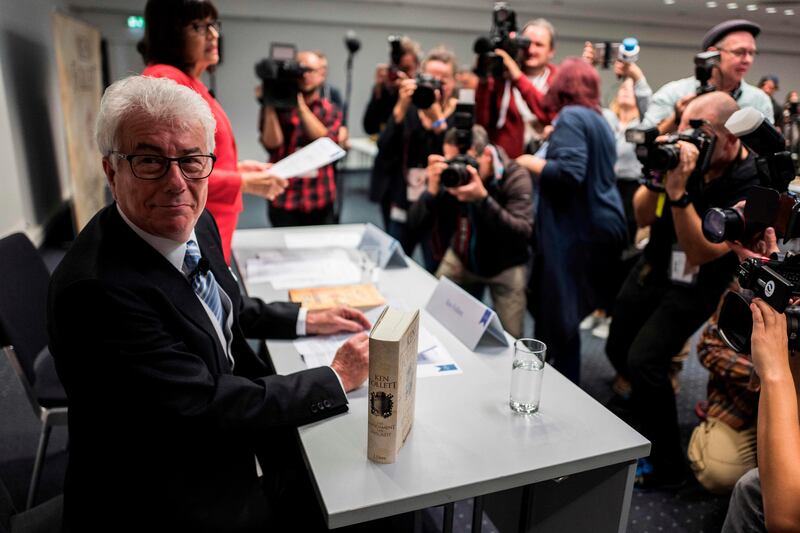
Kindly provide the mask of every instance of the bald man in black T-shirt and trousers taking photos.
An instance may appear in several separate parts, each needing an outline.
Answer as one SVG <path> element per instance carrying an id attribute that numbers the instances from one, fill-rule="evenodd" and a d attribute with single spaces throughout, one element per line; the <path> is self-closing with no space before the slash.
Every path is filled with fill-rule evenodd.
<path id="1" fill-rule="evenodd" d="M 634 196 L 636 222 L 651 227 L 650 241 L 617 296 L 606 353 L 632 385 L 631 396 L 617 403 L 620 412 L 653 443 L 638 469 L 642 487 L 678 488 L 686 479 L 670 361 L 714 312 L 737 265 L 727 246 L 708 242 L 701 229 L 706 210 L 734 205 L 758 183 L 753 155 L 724 126 L 737 109 L 723 92 L 692 100 L 680 130 L 691 119 L 705 121 L 701 128 L 715 139 L 708 167 L 696 170 L 698 149 L 679 141 L 665 191 L 641 186 Z"/>

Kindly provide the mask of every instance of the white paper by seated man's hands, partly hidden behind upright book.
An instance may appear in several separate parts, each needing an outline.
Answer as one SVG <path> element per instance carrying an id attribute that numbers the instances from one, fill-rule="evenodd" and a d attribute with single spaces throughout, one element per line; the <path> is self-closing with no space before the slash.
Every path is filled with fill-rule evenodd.
<path id="1" fill-rule="evenodd" d="M 294 341 L 294 347 L 308 368 L 316 368 L 330 365 L 336 350 L 350 337 L 352 333 L 303 337 Z M 418 378 L 461 374 L 461 367 L 456 364 L 447 348 L 423 326 L 419 328 L 418 348 Z"/>

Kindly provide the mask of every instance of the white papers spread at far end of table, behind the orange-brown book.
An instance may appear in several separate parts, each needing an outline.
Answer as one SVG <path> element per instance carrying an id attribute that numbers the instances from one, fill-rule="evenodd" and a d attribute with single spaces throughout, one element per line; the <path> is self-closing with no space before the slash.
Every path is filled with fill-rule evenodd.
<path id="1" fill-rule="evenodd" d="M 275 289 L 348 285 L 361 281 L 361 268 L 345 250 L 267 250 L 247 260 L 250 283 Z"/>

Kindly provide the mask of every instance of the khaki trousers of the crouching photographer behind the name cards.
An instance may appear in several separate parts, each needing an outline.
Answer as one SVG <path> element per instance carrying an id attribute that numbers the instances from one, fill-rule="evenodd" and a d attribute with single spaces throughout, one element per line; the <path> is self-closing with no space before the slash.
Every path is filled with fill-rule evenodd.
<path id="1" fill-rule="evenodd" d="M 484 278 L 464 268 L 455 252 L 448 248 L 436 270 L 436 277 L 442 276 L 464 288 L 488 285 L 494 311 L 503 328 L 514 338 L 522 337 L 528 285 L 528 269 L 525 265 L 513 266 L 496 276 Z"/>

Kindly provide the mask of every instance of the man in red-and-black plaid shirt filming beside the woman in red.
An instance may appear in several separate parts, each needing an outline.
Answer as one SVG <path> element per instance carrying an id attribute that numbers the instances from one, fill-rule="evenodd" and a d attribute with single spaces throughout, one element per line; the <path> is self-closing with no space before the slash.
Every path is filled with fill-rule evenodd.
<path id="1" fill-rule="evenodd" d="M 313 52 L 298 52 L 297 61 L 304 68 L 299 80 L 297 106 L 276 110 L 271 105 L 261 109 L 261 144 L 275 162 L 299 148 L 329 137 L 339 141 L 341 110 L 320 96 L 324 81 L 320 58 Z M 334 222 L 336 184 L 333 165 L 315 171 L 315 177 L 289 180 L 286 192 L 269 202 L 269 219 L 273 226 L 309 226 Z"/>

